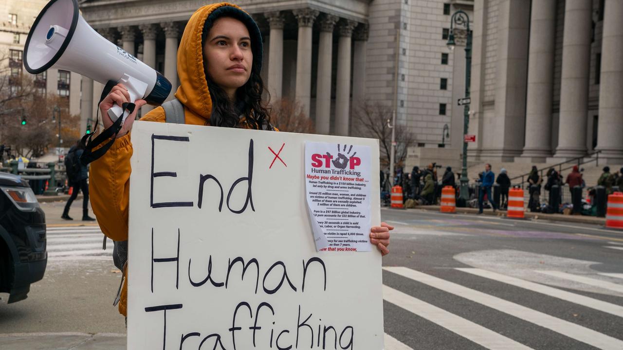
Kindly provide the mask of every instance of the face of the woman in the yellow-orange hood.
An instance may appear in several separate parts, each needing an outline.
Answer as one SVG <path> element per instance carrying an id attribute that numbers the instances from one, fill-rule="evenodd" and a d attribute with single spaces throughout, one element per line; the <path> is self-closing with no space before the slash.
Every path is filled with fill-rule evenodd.
<path id="1" fill-rule="evenodd" d="M 217 19 L 207 34 L 203 47 L 208 77 L 230 98 L 251 75 L 253 52 L 247 27 L 237 19 Z"/>

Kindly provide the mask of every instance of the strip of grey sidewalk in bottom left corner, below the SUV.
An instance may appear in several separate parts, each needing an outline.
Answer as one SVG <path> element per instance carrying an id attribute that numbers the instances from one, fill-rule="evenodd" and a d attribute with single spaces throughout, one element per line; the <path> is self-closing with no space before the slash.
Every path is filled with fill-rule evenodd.
<path id="1" fill-rule="evenodd" d="M 125 350 L 126 335 L 116 333 L 0 334 L 4 350 Z"/>

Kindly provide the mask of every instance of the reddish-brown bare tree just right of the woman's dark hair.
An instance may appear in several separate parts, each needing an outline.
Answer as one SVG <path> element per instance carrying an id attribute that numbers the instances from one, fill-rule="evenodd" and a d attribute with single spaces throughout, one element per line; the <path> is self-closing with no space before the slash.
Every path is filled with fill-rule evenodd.
<path id="1" fill-rule="evenodd" d="M 282 98 L 272 104 L 270 122 L 280 131 L 311 134 L 315 132 L 313 121 L 303 113 L 300 103 Z"/>

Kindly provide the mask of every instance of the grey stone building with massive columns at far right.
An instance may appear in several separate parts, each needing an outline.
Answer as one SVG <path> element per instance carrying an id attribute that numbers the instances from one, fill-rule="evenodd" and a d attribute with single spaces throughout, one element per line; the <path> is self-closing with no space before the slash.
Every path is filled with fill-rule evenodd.
<path id="1" fill-rule="evenodd" d="M 623 164 L 623 1 L 475 0 L 473 159 Z"/>

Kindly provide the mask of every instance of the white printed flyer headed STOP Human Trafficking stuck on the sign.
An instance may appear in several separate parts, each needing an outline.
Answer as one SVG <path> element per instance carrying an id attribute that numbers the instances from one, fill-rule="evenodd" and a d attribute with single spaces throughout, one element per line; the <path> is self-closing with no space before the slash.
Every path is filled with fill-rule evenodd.
<path id="1" fill-rule="evenodd" d="M 305 143 L 305 189 L 316 249 L 368 252 L 370 148 Z"/>

